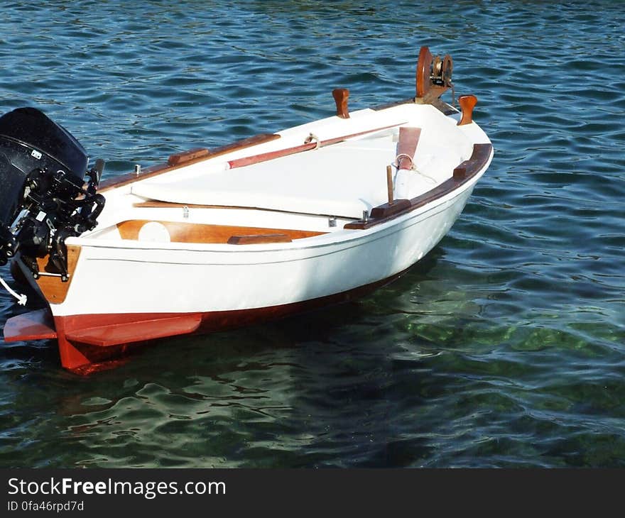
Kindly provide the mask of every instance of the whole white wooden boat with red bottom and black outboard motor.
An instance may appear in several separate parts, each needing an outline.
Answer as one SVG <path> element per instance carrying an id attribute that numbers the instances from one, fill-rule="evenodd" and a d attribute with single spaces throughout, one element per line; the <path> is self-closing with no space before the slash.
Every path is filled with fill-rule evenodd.
<path id="1" fill-rule="evenodd" d="M 0 256 L 47 307 L 8 319 L 4 339 L 55 338 L 62 366 L 89 372 L 131 344 L 390 282 L 445 236 L 491 162 L 477 99 L 440 100 L 451 73 L 423 47 L 413 99 L 349 112 L 336 89 L 327 119 L 104 182 L 103 162 L 85 176 L 80 144 L 43 114 L 5 115 Z"/>

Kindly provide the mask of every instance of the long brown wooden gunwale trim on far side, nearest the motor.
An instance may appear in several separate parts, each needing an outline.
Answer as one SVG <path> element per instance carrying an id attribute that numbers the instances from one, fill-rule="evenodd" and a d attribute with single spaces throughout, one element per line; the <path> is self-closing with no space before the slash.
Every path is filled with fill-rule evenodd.
<path id="1" fill-rule="evenodd" d="M 145 169 L 143 169 L 143 172 L 139 173 L 138 175 L 136 174 L 136 172 L 127 172 L 124 175 L 108 178 L 107 180 L 104 180 L 104 182 L 100 182 L 98 192 L 105 192 L 109 189 L 123 187 L 124 185 L 137 182 L 138 180 L 146 180 L 146 178 L 162 175 L 165 172 L 170 172 L 175 169 L 179 169 L 180 167 L 185 167 L 187 165 L 195 164 L 197 162 L 202 162 L 203 160 L 208 160 L 209 158 L 214 158 L 219 155 L 225 155 L 226 153 L 231 153 L 232 151 L 251 148 L 254 145 L 271 142 L 272 140 L 276 140 L 278 138 L 280 138 L 280 136 L 276 133 L 261 133 L 260 135 L 244 138 L 243 140 L 238 140 L 237 142 L 234 142 L 232 144 L 222 145 L 219 148 L 214 148 L 213 150 L 207 150 L 207 154 L 176 162 L 175 165 L 169 163 L 152 165 L 151 167 L 146 167 Z M 192 152 L 197 152 L 197 150 L 192 150 Z M 180 153 L 180 155 L 184 154 L 185 153 Z"/>

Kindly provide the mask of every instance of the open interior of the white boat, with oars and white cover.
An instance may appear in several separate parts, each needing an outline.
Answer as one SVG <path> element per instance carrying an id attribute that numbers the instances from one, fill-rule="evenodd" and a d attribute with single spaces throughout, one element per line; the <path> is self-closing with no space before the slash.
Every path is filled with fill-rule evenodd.
<path id="1" fill-rule="evenodd" d="M 291 128 L 276 142 L 300 148 L 284 155 L 275 143 L 271 153 L 235 148 L 222 157 L 206 150 L 173 155 L 174 170 L 109 191 L 101 224 L 82 238 L 244 245 L 366 228 L 372 216 L 406 211 L 411 200 L 440 189 L 474 155 L 457 118 L 433 106 L 384 112 L 377 129 L 350 138 L 332 140 L 324 121 Z M 371 109 L 357 111 L 350 123 L 360 129 L 375 116 Z M 331 119 L 336 126 L 337 117 Z M 384 126 L 389 121 L 399 123 Z"/>

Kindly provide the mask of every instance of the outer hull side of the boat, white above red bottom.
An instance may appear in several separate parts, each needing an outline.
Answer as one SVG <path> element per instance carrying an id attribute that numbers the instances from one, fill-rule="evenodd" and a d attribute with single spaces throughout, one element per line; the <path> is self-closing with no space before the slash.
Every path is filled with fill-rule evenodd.
<path id="1" fill-rule="evenodd" d="M 62 366 L 91 372 L 157 338 L 248 326 L 361 297 L 436 246 L 475 182 L 388 224 L 337 233 L 325 243 L 310 238 L 236 252 L 232 246 L 155 250 L 137 242 L 82 246 L 65 301 L 50 304 Z M 19 326 L 12 333 L 5 339 L 20 338 Z M 46 333 L 41 338 L 50 338 L 49 326 Z"/>

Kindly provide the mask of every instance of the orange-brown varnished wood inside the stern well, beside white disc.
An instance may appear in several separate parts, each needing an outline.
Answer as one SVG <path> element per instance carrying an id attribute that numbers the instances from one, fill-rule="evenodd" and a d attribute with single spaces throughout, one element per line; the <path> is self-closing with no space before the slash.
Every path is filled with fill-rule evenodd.
<path id="1" fill-rule="evenodd" d="M 122 239 L 136 241 L 141 227 L 151 220 L 131 219 L 117 224 Z M 167 228 L 172 243 L 228 243 L 232 236 L 286 236 L 289 241 L 294 239 L 320 236 L 325 232 L 293 230 L 287 228 L 260 228 L 253 226 L 207 225 L 195 223 L 178 223 L 175 221 L 158 221 Z M 285 242 L 285 241 L 275 241 Z M 239 243 L 243 244 L 243 243 Z"/>

